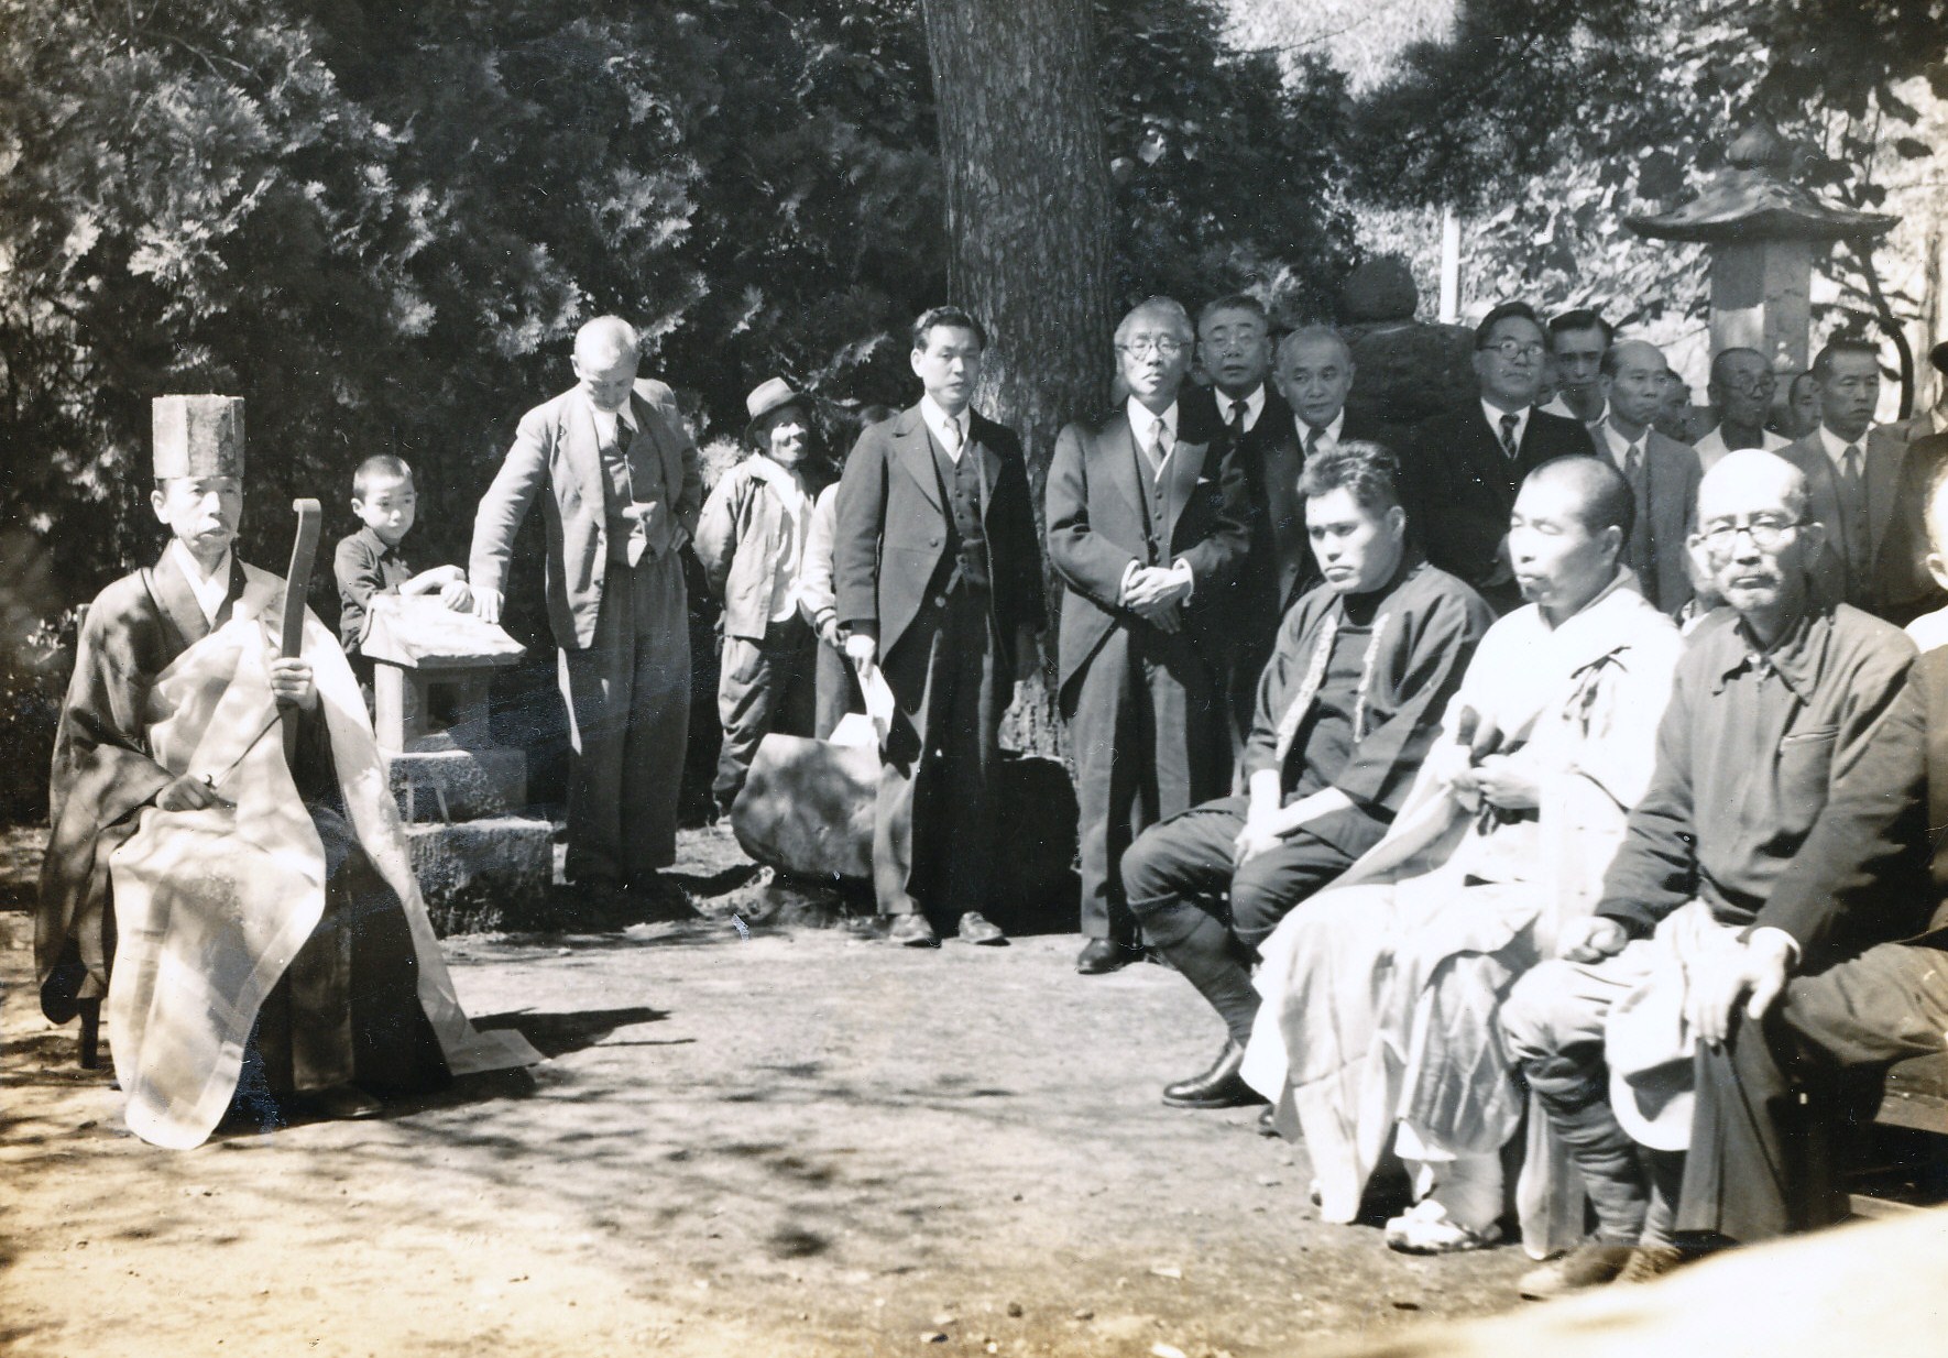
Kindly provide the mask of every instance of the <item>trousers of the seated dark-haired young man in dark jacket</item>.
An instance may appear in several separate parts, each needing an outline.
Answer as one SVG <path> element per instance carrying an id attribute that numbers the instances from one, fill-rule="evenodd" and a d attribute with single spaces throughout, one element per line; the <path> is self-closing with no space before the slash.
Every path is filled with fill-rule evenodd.
<path id="1" fill-rule="evenodd" d="M 1143 937 L 1196 986 L 1239 1044 L 1251 1038 L 1258 1013 L 1258 992 L 1251 986 L 1256 947 L 1293 906 L 1385 834 L 1371 816 L 1348 812 L 1371 826 L 1369 834 L 1356 834 L 1354 853 L 1297 830 L 1284 846 L 1233 867 L 1233 842 L 1249 809 L 1249 797 L 1192 807 L 1143 830 L 1122 855 L 1122 890 Z"/>

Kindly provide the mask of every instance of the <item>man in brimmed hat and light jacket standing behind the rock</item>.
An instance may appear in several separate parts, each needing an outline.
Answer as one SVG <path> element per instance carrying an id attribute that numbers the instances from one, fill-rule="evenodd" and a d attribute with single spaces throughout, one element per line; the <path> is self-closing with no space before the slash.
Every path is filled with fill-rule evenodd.
<path id="1" fill-rule="evenodd" d="M 697 561 L 725 602 L 717 717 L 725 727 L 711 795 L 729 814 L 758 744 L 771 731 L 812 735 L 818 637 L 799 610 L 812 501 L 826 473 L 808 462 L 812 421 L 783 378 L 746 399 L 752 456 L 725 472 L 703 503 Z"/>

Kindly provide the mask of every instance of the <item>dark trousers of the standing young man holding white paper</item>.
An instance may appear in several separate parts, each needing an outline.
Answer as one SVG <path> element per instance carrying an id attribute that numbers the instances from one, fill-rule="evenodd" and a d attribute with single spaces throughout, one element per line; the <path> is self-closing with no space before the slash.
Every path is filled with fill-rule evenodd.
<path id="1" fill-rule="evenodd" d="M 898 715 L 873 807 L 880 914 L 921 910 L 951 931 L 988 904 L 993 773 L 1009 694 L 988 590 L 929 594 L 882 662 Z"/>

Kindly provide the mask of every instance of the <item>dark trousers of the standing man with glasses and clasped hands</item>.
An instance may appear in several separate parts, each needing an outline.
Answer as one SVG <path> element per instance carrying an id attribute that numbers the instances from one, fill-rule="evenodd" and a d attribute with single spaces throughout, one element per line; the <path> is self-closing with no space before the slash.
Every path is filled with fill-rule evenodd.
<path id="1" fill-rule="evenodd" d="M 1122 855 L 1149 826 L 1231 781 L 1221 676 L 1182 633 L 1120 627 L 1083 670 L 1069 717 L 1083 933 L 1136 945 Z"/>

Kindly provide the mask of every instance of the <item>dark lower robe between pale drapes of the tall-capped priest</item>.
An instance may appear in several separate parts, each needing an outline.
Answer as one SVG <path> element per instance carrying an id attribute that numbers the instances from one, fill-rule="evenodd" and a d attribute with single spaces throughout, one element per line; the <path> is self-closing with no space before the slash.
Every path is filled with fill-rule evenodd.
<path id="1" fill-rule="evenodd" d="M 325 910 L 265 996 L 240 1095 L 425 1089 L 446 1079 L 440 1040 L 419 1003 L 419 959 L 399 896 L 345 818 L 312 807 L 325 846 Z M 255 1068 L 255 1070 L 251 1070 Z"/>

